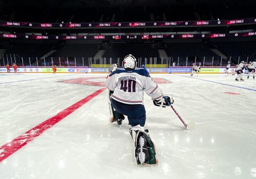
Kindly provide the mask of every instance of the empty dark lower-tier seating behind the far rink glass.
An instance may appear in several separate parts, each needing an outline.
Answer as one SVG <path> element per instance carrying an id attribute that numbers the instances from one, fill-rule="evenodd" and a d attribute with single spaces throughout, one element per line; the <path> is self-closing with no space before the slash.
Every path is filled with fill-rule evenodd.
<path id="1" fill-rule="evenodd" d="M 211 66 L 213 60 L 213 66 L 219 66 L 221 57 L 210 50 L 211 47 L 216 48 L 225 56 L 222 58 L 221 65 L 226 65 L 227 61 L 231 59 L 231 64 L 237 64 L 242 60 L 255 61 L 256 58 L 256 41 L 238 41 L 238 42 L 211 42 L 210 45 L 204 43 L 166 43 L 164 44 L 165 51 L 169 59 L 169 64 L 172 66 L 173 62 L 176 62 L 176 66 L 192 65 L 194 62 L 203 63 L 204 65 Z M 208 47 L 208 48 L 207 48 Z M 86 66 L 90 62 L 89 58 L 94 61 L 94 56 L 100 49 L 98 44 L 44 44 L 44 43 L 11 43 L 9 48 L 4 52 L 4 61 L 8 63 L 14 58 L 17 65 L 36 65 L 37 60 L 39 65 L 59 65 L 60 61 L 63 66 Z M 52 50 L 52 54 L 48 54 L 45 58 L 45 54 Z M 112 44 L 106 49 L 102 58 L 106 58 L 106 63 L 109 64 L 110 58 L 112 63 L 116 63 L 119 58 L 122 60 L 126 55 L 132 54 L 137 59 L 144 60 L 147 58 L 147 64 L 152 57 L 157 58 L 157 64 L 161 64 L 159 52 L 154 45 L 126 45 L 126 44 Z M 29 58 L 30 57 L 30 58 Z M 37 57 L 37 59 L 36 59 Z M 60 57 L 60 58 L 59 58 Z M 231 57 L 231 58 L 230 58 Z M 67 60 L 68 58 L 68 60 Z M 84 60 L 83 60 L 84 58 Z M 96 58 L 96 57 L 95 57 Z M 23 62 L 22 62 L 23 60 Z M 179 62 L 179 64 L 178 64 Z M 100 63 L 96 58 L 96 63 Z M 166 62 L 163 62 L 166 63 Z"/>

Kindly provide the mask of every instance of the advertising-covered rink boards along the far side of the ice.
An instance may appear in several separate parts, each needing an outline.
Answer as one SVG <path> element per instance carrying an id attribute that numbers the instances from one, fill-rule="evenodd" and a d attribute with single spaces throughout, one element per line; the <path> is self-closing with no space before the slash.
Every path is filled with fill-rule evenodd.
<path id="1" fill-rule="evenodd" d="M 147 68 L 150 73 L 191 73 L 192 67 L 182 68 Z M 235 68 L 229 68 L 228 72 L 233 73 Z M 10 68 L 10 72 L 14 72 Z M 53 73 L 52 67 L 18 67 L 18 73 Z M 200 73 L 218 74 L 225 73 L 226 68 L 202 67 Z M 6 67 L 0 67 L 0 73 L 7 73 Z M 88 68 L 88 67 L 57 67 L 57 73 L 108 73 L 108 68 Z"/>

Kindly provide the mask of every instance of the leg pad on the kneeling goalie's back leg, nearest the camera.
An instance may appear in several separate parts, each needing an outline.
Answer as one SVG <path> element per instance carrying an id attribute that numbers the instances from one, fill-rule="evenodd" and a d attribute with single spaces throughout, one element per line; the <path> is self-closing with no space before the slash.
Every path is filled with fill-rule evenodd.
<path id="1" fill-rule="evenodd" d="M 139 126 L 139 125 L 138 125 Z M 139 126 L 130 129 L 134 143 L 134 156 L 137 165 L 157 165 L 155 145 L 149 137 L 148 130 Z"/>

